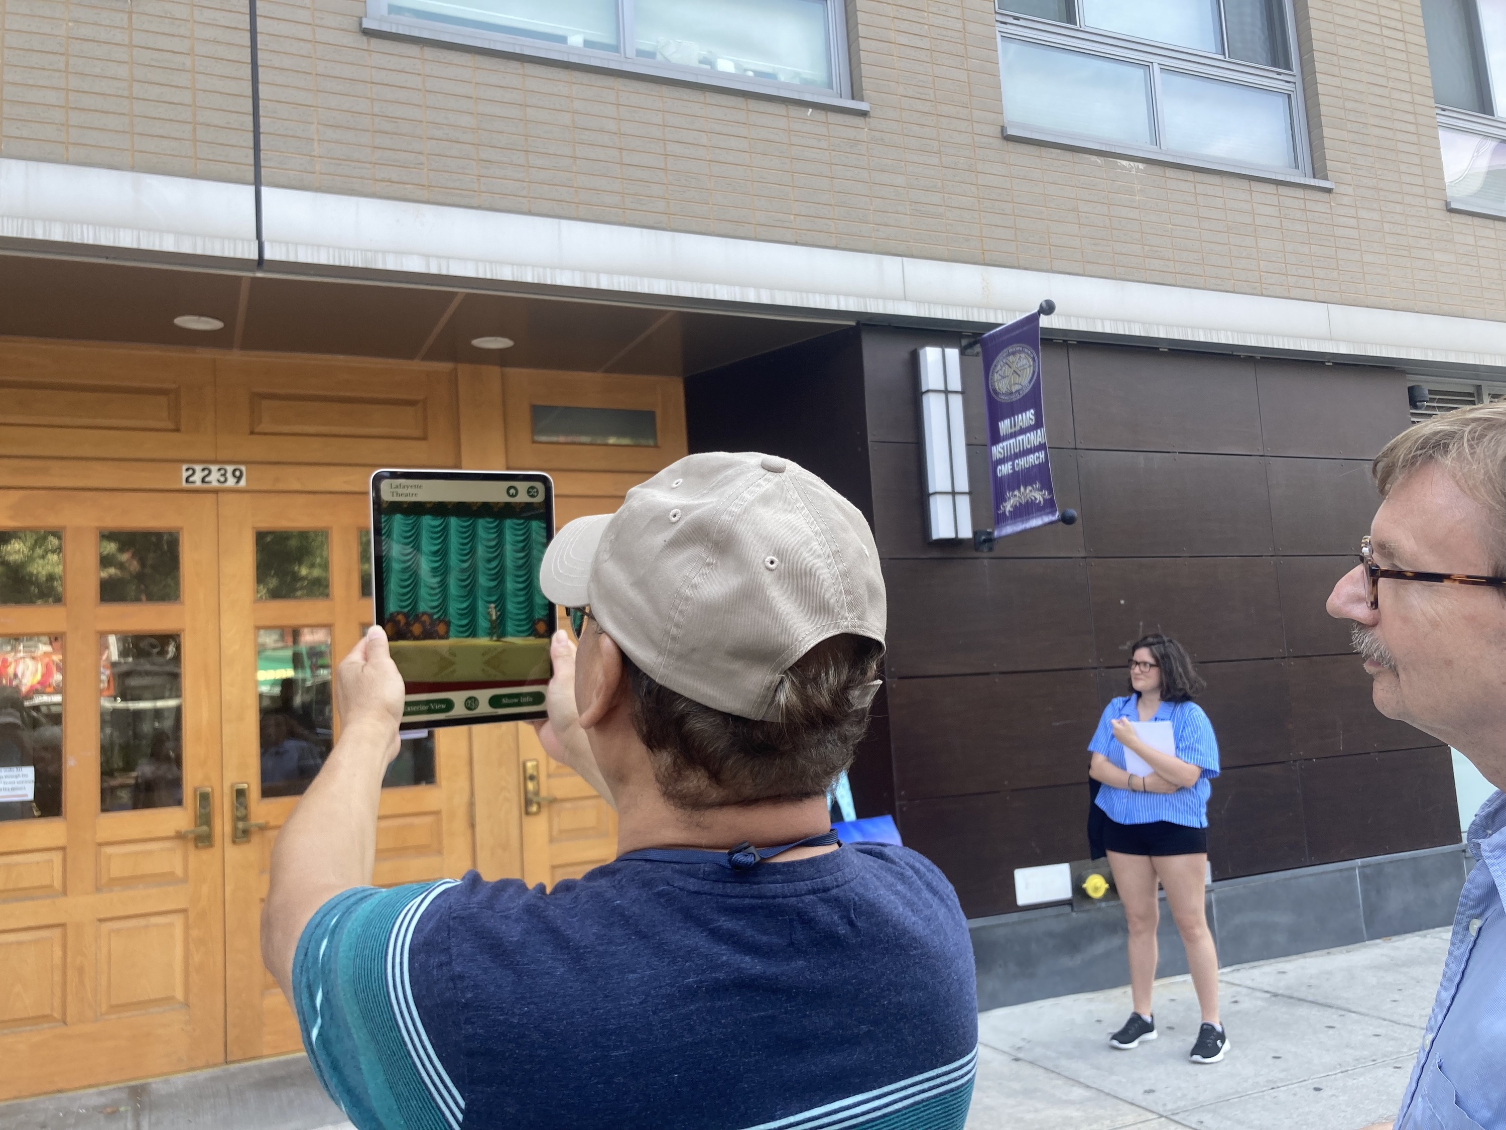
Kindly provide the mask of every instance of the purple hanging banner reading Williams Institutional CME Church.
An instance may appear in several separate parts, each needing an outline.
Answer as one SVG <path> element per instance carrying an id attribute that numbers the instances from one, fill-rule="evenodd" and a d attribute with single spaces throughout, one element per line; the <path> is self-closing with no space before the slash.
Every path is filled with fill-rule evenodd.
<path id="1" fill-rule="evenodd" d="M 989 330 L 983 348 L 988 404 L 988 481 L 994 496 L 994 536 L 1057 521 L 1051 457 L 1041 404 L 1041 313 Z"/>

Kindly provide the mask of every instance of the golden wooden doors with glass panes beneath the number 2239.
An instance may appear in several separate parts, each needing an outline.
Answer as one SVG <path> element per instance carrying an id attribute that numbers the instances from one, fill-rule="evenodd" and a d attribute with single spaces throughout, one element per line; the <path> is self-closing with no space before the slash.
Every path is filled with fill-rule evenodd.
<path id="1" fill-rule="evenodd" d="M 354 493 L 0 491 L 0 1100 L 300 1047 L 261 907 L 370 622 L 366 529 Z M 378 884 L 611 857 L 520 731 L 404 741 Z"/>

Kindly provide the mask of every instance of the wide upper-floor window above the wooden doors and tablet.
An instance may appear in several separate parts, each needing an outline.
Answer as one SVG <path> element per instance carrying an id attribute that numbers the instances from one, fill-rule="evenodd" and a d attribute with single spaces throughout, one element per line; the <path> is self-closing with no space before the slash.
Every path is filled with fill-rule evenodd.
<path id="1" fill-rule="evenodd" d="M 376 35 L 845 99 L 840 0 L 367 0 Z"/>

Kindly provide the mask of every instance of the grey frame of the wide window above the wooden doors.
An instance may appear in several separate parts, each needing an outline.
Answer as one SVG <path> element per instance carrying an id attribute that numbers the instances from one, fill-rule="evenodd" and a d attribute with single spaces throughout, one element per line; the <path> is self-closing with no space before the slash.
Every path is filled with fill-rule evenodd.
<path id="1" fill-rule="evenodd" d="M 852 74 L 848 54 L 846 0 L 825 0 L 831 90 L 822 90 L 818 86 L 803 86 L 800 83 L 780 83 L 771 78 L 724 74 L 721 71 L 709 71 L 703 66 L 682 66 L 657 59 L 637 59 L 630 54 L 633 50 L 633 0 L 616 0 L 616 3 L 619 44 L 616 53 L 596 51 L 589 47 L 551 44 L 542 39 L 529 39 L 480 27 L 444 24 L 420 17 L 392 15 L 387 11 L 387 0 L 366 0 L 366 17 L 361 20 L 361 32 L 383 39 L 402 39 L 416 44 L 437 42 L 482 54 L 497 54 L 508 59 L 523 59 L 604 74 L 623 74 L 633 78 L 648 78 L 673 86 L 736 92 L 782 102 L 819 105 L 827 110 L 845 113 L 869 113 L 867 102 L 851 96 Z"/>

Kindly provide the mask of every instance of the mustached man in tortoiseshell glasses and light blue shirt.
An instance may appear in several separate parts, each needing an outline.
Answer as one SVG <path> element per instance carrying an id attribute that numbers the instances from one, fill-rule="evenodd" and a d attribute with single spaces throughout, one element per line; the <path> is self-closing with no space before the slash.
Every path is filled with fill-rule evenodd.
<path id="1" fill-rule="evenodd" d="M 1506 1128 L 1506 404 L 1419 423 L 1375 458 L 1384 499 L 1328 613 L 1354 621 L 1376 708 L 1497 786 L 1396 1130 Z M 1367 1130 L 1390 1125 L 1378 1122 Z"/>

